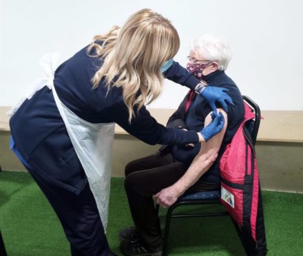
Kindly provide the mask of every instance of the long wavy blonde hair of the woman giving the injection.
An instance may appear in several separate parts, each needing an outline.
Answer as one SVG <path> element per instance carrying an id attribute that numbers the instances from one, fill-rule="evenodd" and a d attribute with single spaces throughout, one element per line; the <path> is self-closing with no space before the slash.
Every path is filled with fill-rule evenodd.
<path id="1" fill-rule="evenodd" d="M 179 47 L 178 32 L 170 21 L 152 10 L 140 10 L 121 29 L 114 26 L 107 34 L 94 36 L 87 51 L 94 49 L 93 56 L 103 58 L 103 65 L 92 78 L 93 88 L 103 78 L 107 89 L 122 87 L 131 122 L 135 106 L 139 110 L 162 92 L 160 67 Z"/>

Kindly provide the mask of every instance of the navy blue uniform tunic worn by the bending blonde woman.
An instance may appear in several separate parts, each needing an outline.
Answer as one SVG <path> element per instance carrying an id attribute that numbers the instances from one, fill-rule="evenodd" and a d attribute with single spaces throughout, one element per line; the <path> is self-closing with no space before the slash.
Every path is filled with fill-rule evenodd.
<path id="1" fill-rule="evenodd" d="M 196 131 L 166 128 L 158 124 L 145 107 L 139 111 L 134 108 L 136 116 L 130 124 L 121 87 L 111 87 L 107 94 L 102 80 L 96 89 L 92 89 L 91 79 L 102 64 L 101 58 L 89 56 L 87 47 L 84 47 L 56 70 L 56 92 L 74 114 L 87 122 L 116 122 L 129 134 L 150 145 L 198 142 Z M 200 82 L 176 62 L 164 75 L 190 89 Z M 81 191 L 86 176 L 48 87 L 25 100 L 10 118 L 10 130 L 19 155 L 33 169 L 32 175 L 74 193 Z"/>

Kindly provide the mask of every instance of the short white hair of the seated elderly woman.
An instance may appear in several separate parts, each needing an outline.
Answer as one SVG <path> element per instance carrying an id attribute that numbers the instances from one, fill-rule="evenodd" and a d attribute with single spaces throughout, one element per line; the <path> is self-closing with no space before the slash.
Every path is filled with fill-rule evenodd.
<path id="1" fill-rule="evenodd" d="M 226 70 L 231 60 L 231 49 L 227 41 L 205 34 L 191 45 L 191 50 L 209 61 L 219 63 L 219 70 Z"/>

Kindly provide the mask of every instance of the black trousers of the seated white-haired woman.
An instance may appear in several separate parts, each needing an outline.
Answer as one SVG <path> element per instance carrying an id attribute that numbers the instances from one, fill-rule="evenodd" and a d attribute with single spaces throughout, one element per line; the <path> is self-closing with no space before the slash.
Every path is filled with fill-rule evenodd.
<path id="1" fill-rule="evenodd" d="M 152 196 L 171 186 L 187 171 L 187 166 L 176 162 L 171 153 L 156 153 L 129 162 L 125 167 L 125 191 L 134 226 L 140 242 L 147 248 L 162 246 L 160 222 Z M 218 184 L 200 179 L 189 191 L 211 191 Z"/>

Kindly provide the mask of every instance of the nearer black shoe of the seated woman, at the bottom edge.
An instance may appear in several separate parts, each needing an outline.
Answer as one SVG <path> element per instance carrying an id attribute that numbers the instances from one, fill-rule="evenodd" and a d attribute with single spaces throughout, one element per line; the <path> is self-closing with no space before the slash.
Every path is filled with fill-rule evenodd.
<path id="1" fill-rule="evenodd" d="M 162 246 L 159 248 L 146 248 L 138 240 L 124 241 L 120 244 L 120 250 L 127 256 L 161 256 Z"/>

